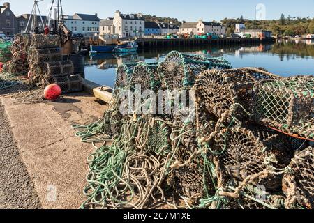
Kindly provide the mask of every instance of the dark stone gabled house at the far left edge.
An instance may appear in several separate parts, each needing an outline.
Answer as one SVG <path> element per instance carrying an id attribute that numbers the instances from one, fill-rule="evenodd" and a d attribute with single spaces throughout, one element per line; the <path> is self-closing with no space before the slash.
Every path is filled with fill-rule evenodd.
<path id="1" fill-rule="evenodd" d="M 10 3 L 3 3 L 3 6 L 0 6 L 0 32 L 13 36 L 17 34 L 17 30 L 17 19 L 10 9 Z"/>

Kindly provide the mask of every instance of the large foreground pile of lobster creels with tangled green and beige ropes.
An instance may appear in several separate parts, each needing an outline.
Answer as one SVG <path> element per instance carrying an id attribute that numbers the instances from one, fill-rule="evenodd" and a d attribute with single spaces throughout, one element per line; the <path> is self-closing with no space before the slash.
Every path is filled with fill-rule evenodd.
<path id="1" fill-rule="evenodd" d="M 170 52 L 117 69 L 110 109 L 77 137 L 82 208 L 313 208 L 313 77 Z"/>

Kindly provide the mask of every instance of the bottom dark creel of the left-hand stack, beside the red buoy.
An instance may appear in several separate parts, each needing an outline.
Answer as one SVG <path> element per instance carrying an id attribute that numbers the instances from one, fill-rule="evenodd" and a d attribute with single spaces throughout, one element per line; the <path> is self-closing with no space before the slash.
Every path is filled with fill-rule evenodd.
<path id="1" fill-rule="evenodd" d="M 54 77 L 52 82 L 60 86 L 62 93 L 73 93 L 83 90 L 82 77 L 80 75 Z"/>

